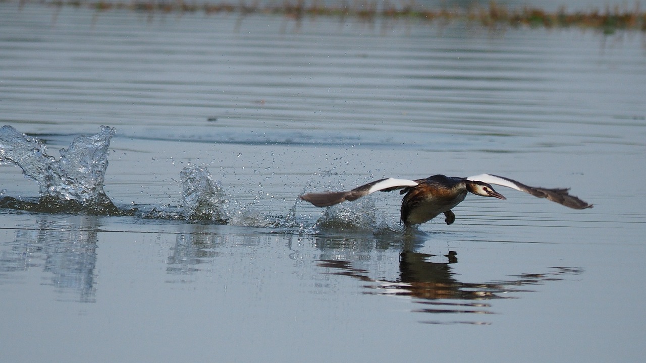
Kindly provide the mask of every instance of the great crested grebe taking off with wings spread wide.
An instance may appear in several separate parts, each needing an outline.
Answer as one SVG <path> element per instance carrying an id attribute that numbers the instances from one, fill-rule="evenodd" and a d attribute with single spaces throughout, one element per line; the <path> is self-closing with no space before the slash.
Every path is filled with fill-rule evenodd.
<path id="1" fill-rule="evenodd" d="M 530 187 L 516 182 L 516 180 L 491 174 L 479 174 L 468 178 L 438 174 L 418 180 L 386 178 L 361 185 L 351 191 L 308 193 L 300 196 L 300 199 L 317 207 L 328 207 L 346 200 L 356 200 L 376 191 L 390 192 L 402 189 L 400 194 L 406 194 L 401 207 L 401 221 L 404 225 L 410 226 L 428 222 L 440 213 L 444 213 L 446 216 L 444 220 L 446 224 L 451 224 L 455 222 L 455 214 L 451 209 L 464 200 L 467 192 L 506 199 L 503 194 L 495 191 L 491 184 L 516 189 L 538 198 L 547 198 L 552 202 L 574 209 L 592 207 L 592 204 L 568 194 L 568 189 Z"/>

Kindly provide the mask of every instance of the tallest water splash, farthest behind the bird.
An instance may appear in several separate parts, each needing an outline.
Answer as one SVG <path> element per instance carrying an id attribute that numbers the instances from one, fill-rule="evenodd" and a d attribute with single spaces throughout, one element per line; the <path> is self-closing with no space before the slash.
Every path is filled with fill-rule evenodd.
<path id="1" fill-rule="evenodd" d="M 0 128 L 0 163 L 12 163 L 40 187 L 38 202 L 5 197 L 0 207 L 44 213 L 130 214 L 121 211 L 103 191 L 107 151 L 116 130 L 101 126 L 92 136 L 78 136 L 61 157 L 47 154 L 43 141 Z"/>

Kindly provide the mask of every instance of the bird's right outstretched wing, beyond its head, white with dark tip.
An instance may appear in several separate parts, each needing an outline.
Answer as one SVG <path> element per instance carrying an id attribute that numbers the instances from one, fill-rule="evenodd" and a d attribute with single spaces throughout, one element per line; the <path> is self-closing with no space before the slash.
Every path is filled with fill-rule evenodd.
<path id="1" fill-rule="evenodd" d="M 541 187 L 530 187 L 529 185 L 516 182 L 516 180 L 511 180 L 503 176 L 497 176 L 492 174 L 480 174 L 475 176 L 469 176 L 466 179 L 473 180 L 474 182 L 479 181 L 479 182 L 485 182 L 489 184 L 502 185 L 503 187 L 509 187 L 512 189 L 516 189 L 517 191 L 532 194 L 533 196 L 536 196 L 538 198 L 547 198 L 552 202 L 556 202 L 556 203 L 565 205 L 566 207 L 570 207 L 574 209 L 592 208 L 592 204 L 583 202 L 583 200 L 580 200 L 576 196 L 571 196 L 567 192 L 569 189 L 565 189 L 565 188 L 547 189 L 547 188 L 541 188 Z"/>

